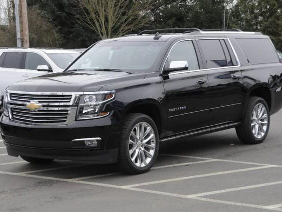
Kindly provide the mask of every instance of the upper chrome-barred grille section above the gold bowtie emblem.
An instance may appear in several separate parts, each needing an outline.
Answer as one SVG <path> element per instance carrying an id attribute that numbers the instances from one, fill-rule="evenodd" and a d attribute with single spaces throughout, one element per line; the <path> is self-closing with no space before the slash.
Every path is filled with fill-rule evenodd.
<path id="1" fill-rule="evenodd" d="M 71 101 L 72 95 L 34 95 L 34 94 L 18 94 L 11 93 L 10 99 L 14 101 L 30 102 L 37 101 L 38 103 L 68 103 Z"/>

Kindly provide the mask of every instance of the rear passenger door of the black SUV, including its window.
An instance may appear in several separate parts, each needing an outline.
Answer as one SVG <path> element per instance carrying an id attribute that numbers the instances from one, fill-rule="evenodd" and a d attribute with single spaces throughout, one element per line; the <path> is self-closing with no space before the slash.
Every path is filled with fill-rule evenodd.
<path id="1" fill-rule="evenodd" d="M 208 71 L 209 126 L 241 120 L 244 87 L 236 54 L 227 38 L 198 39 L 203 63 Z"/>

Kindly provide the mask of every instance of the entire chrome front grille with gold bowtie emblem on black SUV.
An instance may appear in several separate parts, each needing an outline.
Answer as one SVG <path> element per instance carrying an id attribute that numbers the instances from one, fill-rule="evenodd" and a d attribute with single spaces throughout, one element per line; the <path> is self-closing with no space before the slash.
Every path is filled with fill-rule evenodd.
<path id="1" fill-rule="evenodd" d="M 30 125 L 70 124 L 75 121 L 80 95 L 8 91 L 9 118 Z"/>

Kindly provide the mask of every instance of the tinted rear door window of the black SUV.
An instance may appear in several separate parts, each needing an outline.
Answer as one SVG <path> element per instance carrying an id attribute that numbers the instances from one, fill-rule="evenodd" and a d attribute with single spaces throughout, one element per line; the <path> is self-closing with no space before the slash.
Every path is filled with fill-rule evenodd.
<path id="1" fill-rule="evenodd" d="M 218 68 L 228 66 L 220 40 L 199 40 L 207 68 Z M 230 58 L 230 56 L 229 56 Z"/>

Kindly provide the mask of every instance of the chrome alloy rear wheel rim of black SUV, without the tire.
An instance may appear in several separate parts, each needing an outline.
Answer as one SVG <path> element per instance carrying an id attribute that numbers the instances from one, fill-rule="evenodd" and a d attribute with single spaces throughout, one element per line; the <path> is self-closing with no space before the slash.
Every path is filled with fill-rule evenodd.
<path id="1" fill-rule="evenodd" d="M 266 107 L 259 103 L 254 107 L 252 114 L 252 132 L 258 139 L 264 137 L 268 129 L 268 111 Z"/>

